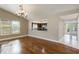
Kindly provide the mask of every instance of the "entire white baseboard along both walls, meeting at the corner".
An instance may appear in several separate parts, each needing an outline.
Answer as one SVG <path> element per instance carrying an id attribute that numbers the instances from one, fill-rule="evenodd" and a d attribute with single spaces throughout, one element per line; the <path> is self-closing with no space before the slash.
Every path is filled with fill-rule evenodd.
<path id="1" fill-rule="evenodd" d="M 20 37 L 25 37 L 25 36 L 31 36 L 31 37 L 36 37 L 36 38 L 40 38 L 40 39 L 52 41 L 52 42 L 57 42 L 57 43 L 61 43 L 61 44 L 68 45 L 68 46 L 70 46 L 70 47 L 79 49 L 79 47 L 72 46 L 71 44 L 67 44 L 67 43 L 64 43 L 64 42 L 61 42 L 61 41 L 56 41 L 56 40 L 53 40 L 53 39 L 50 39 L 50 38 L 44 38 L 44 37 L 40 37 L 40 36 L 36 36 L 36 35 L 30 35 L 30 34 L 28 34 L 28 35 L 26 34 L 26 35 L 16 36 L 16 37 L 10 37 L 10 38 L 4 38 L 4 39 L 0 39 L 0 41 L 3 41 L 3 40 L 11 40 L 11 39 L 20 38 Z"/>

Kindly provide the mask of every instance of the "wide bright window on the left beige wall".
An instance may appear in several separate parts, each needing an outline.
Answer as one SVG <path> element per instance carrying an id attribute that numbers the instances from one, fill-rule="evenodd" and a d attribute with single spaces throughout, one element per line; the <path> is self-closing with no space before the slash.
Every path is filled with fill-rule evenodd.
<path id="1" fill-rule="evenodd" d="M 0 19 L 0 35 L 11 35 L 20 33 L 20 22 L 1 20 Z"/>

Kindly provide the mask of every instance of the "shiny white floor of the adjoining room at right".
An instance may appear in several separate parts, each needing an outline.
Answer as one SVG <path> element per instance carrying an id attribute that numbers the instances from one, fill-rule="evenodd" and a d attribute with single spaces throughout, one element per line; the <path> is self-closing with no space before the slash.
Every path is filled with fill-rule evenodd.
<path id="1" fill-rule="evenodd" d="M 62 39 L 59 39 L 59 41 L 68 46 L 72 46 L 74 48 L 79 49 L 79 41 L 78 41 L 77 37 L 74 35 L 73 36 L 64 35 L 64 37 Z"/>

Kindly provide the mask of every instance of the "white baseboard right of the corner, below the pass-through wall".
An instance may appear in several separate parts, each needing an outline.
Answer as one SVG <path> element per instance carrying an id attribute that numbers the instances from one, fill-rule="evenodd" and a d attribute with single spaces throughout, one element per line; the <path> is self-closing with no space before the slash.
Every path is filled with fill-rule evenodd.
<path id="1" fill-rule="evenodd" d="M 67 44 L 65 42 L 56 41 L 56 40 L 53 40 L 53 39 L 50 39 L 50 38 L 44 38 L 44 37 L 40 37 L 40 36 L 36 36 L 36 35 L 30 35 L 30 34 L 28 34 L 28 36 L 36 37 L 36 38 L 40 38 L 40 39 L 44 39 L 44 40 L 48 40 L 48 41 L 52 41 L 52 42 L 56 42 L 56 43 L 60 43 L 60 44 L 64 44 L 64 45 L 79 49 L 79 47 L 72 46 L 72 44 Z"/>

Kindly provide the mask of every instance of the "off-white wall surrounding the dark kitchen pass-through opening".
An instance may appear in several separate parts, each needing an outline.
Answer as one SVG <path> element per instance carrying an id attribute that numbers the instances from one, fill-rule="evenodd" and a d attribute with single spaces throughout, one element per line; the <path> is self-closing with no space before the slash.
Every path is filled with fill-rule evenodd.
<path id="1" fill-rule="evenodd" d="M 31 22 L 29 21 L 29 35 L 57 40 L 58 39 L 58 17 L 51 16 L 48 18 L 47 31 L 33 31 L 31 29 Z"/>

